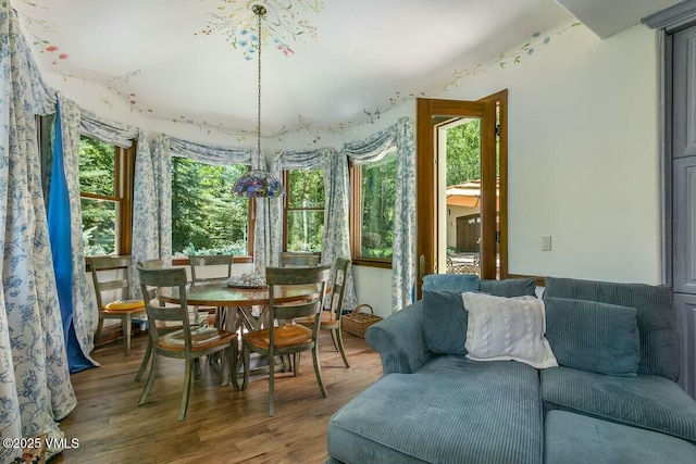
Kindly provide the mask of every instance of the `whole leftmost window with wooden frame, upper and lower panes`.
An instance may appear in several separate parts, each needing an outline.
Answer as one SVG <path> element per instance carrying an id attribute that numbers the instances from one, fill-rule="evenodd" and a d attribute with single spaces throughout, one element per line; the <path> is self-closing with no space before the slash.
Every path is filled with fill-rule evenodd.
<path id="1" fill-rule="evenodd" d="M 80 136 L 85 255 L 130 254 L 135 141 L 125 149 Z"/>

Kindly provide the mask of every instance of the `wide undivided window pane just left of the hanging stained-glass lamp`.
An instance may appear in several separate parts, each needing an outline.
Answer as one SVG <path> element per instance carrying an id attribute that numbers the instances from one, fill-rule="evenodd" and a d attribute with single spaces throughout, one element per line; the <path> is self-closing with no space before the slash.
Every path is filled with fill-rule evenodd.
<path id="1" fill-rule="evenodd" d="M 249 200 L 232 193 L 247 166 L 172 159 L 172 250 L 247 254 Z"/>

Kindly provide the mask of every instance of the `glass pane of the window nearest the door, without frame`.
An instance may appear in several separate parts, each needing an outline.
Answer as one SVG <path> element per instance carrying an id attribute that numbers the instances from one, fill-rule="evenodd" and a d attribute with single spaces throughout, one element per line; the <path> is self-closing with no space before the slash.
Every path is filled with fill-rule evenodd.
<path id="1" fill-rule="evenodd" d="M 396 198 L 396 153 L 361 168 L 361 258 L 391 258 L 394 204 Z"/>

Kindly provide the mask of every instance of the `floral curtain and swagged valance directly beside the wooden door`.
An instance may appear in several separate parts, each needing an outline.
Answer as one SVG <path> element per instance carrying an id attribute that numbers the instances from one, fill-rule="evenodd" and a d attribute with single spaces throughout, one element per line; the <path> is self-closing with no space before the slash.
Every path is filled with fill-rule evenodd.
<path id="1" fill-rule="evenodd" d="M 396 202 L 394 205 L 394 254 L 391 256 L 391 311 L 413 302 L 415 286 L 415 134 L 413 120 L 396 124 L 364 140 L 344 145 L 351 161 L 369 163 L 385 150 L 396 148 Z"/>

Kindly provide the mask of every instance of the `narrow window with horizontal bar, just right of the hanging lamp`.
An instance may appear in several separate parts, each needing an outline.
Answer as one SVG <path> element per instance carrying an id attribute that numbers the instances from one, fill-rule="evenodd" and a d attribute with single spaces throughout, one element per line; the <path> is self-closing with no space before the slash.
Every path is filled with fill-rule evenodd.
<path id="1" fill-rule="evenodd" d="M 285 187 L 285 250 L 320 252 L 324 237 L 323 172 L 286 171 Z"/>

